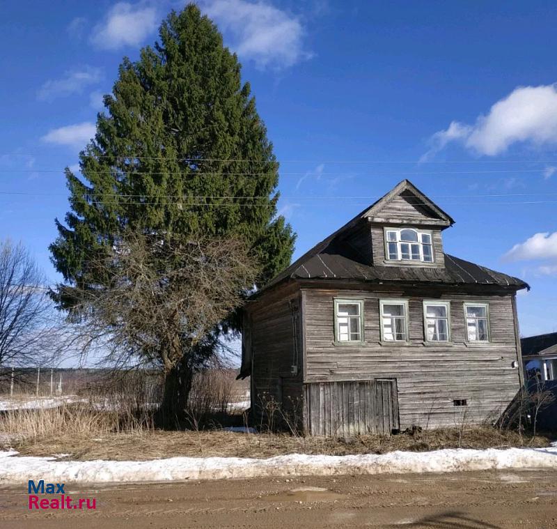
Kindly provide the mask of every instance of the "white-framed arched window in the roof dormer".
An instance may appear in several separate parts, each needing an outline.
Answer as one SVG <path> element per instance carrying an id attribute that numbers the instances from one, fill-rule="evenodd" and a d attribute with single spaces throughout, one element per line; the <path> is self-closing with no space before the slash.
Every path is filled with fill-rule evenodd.
<path id="1" fill-rule="evenodd" d="M 386 256 L 389 261 L 433 262 L 432 234 L 412 228 L 385 230 Z"/>

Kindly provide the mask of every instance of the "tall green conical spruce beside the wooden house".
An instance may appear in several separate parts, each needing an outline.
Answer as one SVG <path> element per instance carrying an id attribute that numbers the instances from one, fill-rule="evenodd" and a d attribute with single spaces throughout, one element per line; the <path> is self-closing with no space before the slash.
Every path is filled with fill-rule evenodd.
<path id="1" fill-rule="evenodd" d="M 278 163 L 236 55 L 194 5 L 168 15 L 159 36 L 139 61 L 123 59 L 80 153 L 82 176 L 65 170 L 71 211 L 56 220 L 50 246 L 65 309 L 72 291 L 109 284 L 89 263 L 125 231 L 241 238 L 260 264 L 258 284 L 290 262 L 295 236 L 276 214 Z M 195 367 L 215 344 L 212 335 L 200 350 L 185 347 L 180 365 Z"/>

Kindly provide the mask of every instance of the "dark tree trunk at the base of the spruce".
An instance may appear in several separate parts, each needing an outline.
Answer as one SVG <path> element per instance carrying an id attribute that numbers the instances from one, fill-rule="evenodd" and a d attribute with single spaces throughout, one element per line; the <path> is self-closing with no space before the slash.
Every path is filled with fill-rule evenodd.
<path id="1" fill-rule="evenodd" d="M 164 393 L 157 413 L 157 423 L 163 428 L 177 428 L 186 418 L 185 410 L 191 390 L 192 369 L 182 358 L 164 377 Z"/>

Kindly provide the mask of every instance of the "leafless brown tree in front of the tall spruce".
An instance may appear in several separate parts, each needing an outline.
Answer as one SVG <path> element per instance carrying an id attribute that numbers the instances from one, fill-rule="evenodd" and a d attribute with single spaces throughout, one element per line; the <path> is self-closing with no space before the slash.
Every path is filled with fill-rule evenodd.
<path id="1" fill-rule="evenodd" d="M 175 422 L 183 416 L 191 376 L 213 353 L 205 347 L 211 331 L 242 305 L 253 285 L 257 269 L 246 245 L 127 232 L 88 270 L 103 284 L 58 290 L 73 298 L 83 351 L 97 347 L 114 367 L 161 369 L 161 410 L 167 424 Z"/>

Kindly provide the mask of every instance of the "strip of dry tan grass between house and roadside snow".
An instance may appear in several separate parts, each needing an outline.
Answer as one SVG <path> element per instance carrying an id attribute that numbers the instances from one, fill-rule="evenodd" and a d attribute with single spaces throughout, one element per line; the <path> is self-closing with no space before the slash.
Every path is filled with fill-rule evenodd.
<path id="1" fill-rule="evenodd" d="M 512 431 L 492 427 L 466 429 L 464 448 L 544 447 L 549 438 L 527 438 Z M 281 454 L 382 454 L 393 450 L 423 452 L 459 445 L 458 429 L 430 430 L 423 434 L 361 436 L 352 440 L 303 438 L 289 434 L 237 434 L 228 431 L 137 431 L 133 434 L 97 433 L 95 436 L 72 431 L 65 436 L 27 438 L 13 444 L 25 455 L 70 454 L 68 459 L 110 459 L 144 461 L 164 457 L 255 457 Z"/>

